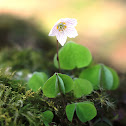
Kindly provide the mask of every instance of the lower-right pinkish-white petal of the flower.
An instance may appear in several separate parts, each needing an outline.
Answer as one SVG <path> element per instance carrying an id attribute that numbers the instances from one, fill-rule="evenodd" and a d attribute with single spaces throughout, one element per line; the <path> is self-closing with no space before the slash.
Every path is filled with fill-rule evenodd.
<path id="1" fill-rule="evenodd" d="M 75 38 L 76 36 L 78 36 L 78 33 L 77 33 L 77 31 L 74 27 L 67 27 L 66 30 L 65 30 L 65 34 L 69 38 Z"/>

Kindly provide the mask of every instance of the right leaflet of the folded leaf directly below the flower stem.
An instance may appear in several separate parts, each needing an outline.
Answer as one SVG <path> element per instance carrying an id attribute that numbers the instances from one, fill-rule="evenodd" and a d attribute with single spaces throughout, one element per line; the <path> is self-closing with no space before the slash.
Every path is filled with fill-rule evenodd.
<path id="1" fill-rule="evenodd" d="M 58 73 L 58 76 L 62 78 L 64 86 L 65 86 L 65 93 L 70 92 L 73 89 L 73 80 L 71 77 L 65 74 Z"/>

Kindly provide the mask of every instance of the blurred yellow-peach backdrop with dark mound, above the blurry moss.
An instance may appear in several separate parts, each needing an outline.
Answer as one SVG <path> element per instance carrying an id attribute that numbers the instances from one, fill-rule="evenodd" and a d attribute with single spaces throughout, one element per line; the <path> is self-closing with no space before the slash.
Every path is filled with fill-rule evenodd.
<path id="1" fill-rule="evenodd" d="M 0 0 L 0 48 L 55 48 L 48 33 L 66 17 L 78 21 L 79 36 L 68 40 L 88 47 L 97 62 L 126 72 L 125 0 Z"/>

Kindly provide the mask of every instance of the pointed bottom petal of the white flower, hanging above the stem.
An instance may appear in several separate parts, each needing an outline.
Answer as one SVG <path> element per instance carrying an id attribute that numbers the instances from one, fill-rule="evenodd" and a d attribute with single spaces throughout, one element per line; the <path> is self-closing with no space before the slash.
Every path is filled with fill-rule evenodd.
<path id="1" fill-rule="evenodd" d="M 56 35 L 56 38 L 58 40 L 58 42 L 64 46 L 66 40 L 67 40 L 67 35 L 64 34 L 64 32 L 59 32 L 57 35 Z"/>

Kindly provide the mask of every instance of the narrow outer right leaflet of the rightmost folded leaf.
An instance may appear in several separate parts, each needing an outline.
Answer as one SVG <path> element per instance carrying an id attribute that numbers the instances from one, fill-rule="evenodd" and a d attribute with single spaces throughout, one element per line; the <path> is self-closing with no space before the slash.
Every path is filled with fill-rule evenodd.
<path id="1" fill-rule="evenodd" d="M 108 67 L 108 69 L 111 71 L 111 73 L 113 75 L 113 86 L 112 86 L 111 90 L 115 90 L 119 86 L 119 77 L 115 70 L 113 70 L 110 67 Z"/>

